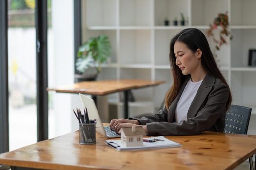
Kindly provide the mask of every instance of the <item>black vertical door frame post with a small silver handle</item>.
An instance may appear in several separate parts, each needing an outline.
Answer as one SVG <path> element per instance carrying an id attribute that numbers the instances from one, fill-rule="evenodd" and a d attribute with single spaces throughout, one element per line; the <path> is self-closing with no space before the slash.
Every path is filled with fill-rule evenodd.
<path id="1" fill-rule="evenodd" d="M 47 0 L 36 0 L 37 141 L 48 139 Z"/>

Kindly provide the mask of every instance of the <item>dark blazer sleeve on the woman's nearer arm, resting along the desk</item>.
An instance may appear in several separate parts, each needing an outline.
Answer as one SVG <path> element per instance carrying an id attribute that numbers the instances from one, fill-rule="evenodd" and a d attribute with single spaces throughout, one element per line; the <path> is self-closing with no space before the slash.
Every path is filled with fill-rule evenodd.
<path id="1" fill-rule="evenodd" d="M 183 120 L 179 123 L 172 123 L 163 118 L 162 111 L 160 115 L 144 118 L 147 121 L 148 135 L 178 136 L 178 135 L 196 135 L 209 130 L 226 113 L 226 103 L 229 96 L 228 86 L 224 83 L 215 84 L 205 99 L 205 105 L 196 114 L 194 118 Z M 153 119 L 154 118 L 154 119 Z M 149 122 L 149 120 L 151 122 Z M 153 122 L 153 120 L 160 120 Z"/>

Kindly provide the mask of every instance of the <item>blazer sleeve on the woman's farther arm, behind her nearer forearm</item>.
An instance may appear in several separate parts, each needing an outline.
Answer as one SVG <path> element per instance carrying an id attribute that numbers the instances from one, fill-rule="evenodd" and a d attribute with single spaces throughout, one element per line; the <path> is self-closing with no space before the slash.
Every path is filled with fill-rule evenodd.
<path id="1" fill-rule="evenodd" d="M 134 117 L 130 117 L 128 119 L 138 120 L 141 125 L 146 125 L 147 123 L 152 123 L 152 122 L 167 121 L 167 114 L 168 114 L 168 111 L 164 106 L 164 108 L 162 108 L 157 114 L 144 116 L 140 119 L 134 118 Z"/>

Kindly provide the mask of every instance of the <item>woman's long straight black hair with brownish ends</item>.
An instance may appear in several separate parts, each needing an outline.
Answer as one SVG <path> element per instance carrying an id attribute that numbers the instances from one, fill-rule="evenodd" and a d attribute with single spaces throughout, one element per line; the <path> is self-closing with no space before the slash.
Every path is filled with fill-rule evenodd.
<path id="1" fill-rule="evenodd" d="M 205 35 L 196 28 L 184 29 L 178 34 L 176 34 L 170 42 L 169 60 L 170 60 L 170 66 L 172 68 L 174 82 L 172 87 L 168 90 L 165 96 L 165 107 L 167 109 L 170 106 L 170 104 L 173 102 L 173 100 L 176 98 L 181 88 L 181 85 L 184 83 L 186 77 L 188 76 L 188 75 L 183 75 L 179 67 L 175 64 L 176 58 L 174 55 L 174 43 L 176 41 L 186 44 L 187 47 L 190 50 L 192 50 L 194 53 L 197 51 L 197 49 L 200 49 L 202 51 L 202 56 L 201 56 L 202 67 L 206 70 L 208 74 L 219 78 L 223 83 L 225 83 L 228 86 L 227 81 L 225 80 L 224 76 L 221 74 L 220 70 L 217 67 L 213 53 L 210 49 L 209 43 Z M 229 108 L 231 101 L 232 101 L 232 96 L 229 88 L 229 99 L 226 104 L 226 110 Z"/>

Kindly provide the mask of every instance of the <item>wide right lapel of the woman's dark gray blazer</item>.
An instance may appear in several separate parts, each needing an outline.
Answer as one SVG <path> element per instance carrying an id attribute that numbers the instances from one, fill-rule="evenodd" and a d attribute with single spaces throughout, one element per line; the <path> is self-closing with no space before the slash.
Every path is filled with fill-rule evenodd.
<path id="1" fill-rule="evenodd" d="M 199 108 L 203 104 L 205 98 L 208 96 L 212 86 L 214 85 L 215 77 L 206 74 L 202 84 L 200 85 L 195 98 L 193 99 L 189 109 L 187 118 L 193 118 L 196 116 Z"/>

